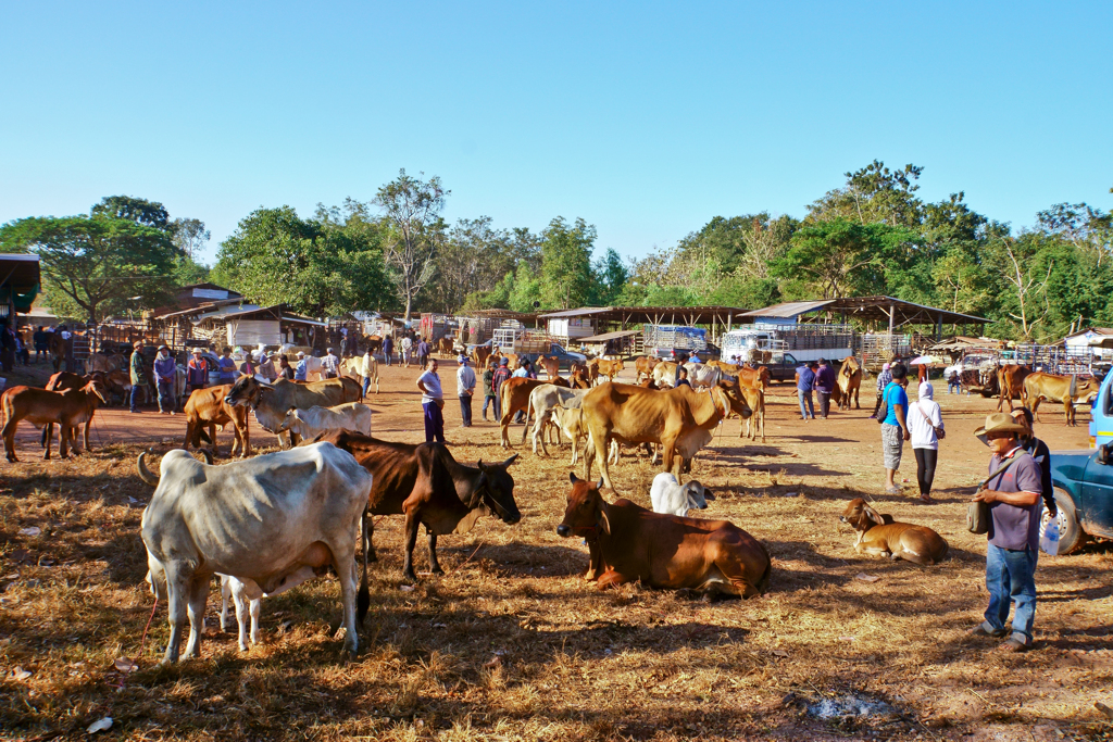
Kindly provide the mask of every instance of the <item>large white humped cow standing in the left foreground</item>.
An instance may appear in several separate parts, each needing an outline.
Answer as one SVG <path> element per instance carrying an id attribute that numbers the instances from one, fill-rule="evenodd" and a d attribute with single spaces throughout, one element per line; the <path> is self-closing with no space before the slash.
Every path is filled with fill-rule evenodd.
<path id="1" fill-rule="evenodd" d="M 372 477 L 331 443 L 280 451 L 223 466 L 185 451 L 162 457 L 156 478 L 139 455 L 139 477 L 157 486 L 142 514 L 147 581 L 168 601 L 170 637 L 162 664 L 177 662 L 188 614 L 186 657 L 200 655 L 208 583 L 216 573 L 254 582 L 267 595 L 323 575 L 341 583 L 344 649 L 358 650 L 356 622 L 367 595 L 367 554 L 356 592 L 356 540 Z M 362 520 L 364 543 L 367 521 Z M 358 604 L 357 604 L 358 603 Z"/>

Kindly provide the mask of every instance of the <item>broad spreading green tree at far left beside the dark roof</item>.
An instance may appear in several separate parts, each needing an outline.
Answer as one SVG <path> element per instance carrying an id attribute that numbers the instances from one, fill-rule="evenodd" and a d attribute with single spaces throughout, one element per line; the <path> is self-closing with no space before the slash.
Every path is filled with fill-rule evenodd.
<path id="1" fill-rule="evenodd" d="M 170 235 L 104 211 L 97 216 L 30 217 L 0 227 L 0 249 L 38 254 L 50 306 L 100 321 L 128 308 L 164 301 L 174 285 L 177 251 Z"/>

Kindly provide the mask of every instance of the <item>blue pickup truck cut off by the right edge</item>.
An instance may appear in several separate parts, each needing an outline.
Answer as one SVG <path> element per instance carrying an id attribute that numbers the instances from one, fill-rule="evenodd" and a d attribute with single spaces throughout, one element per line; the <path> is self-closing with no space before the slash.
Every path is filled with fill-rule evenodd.
<path id="1" fill-rule="evenodd" d="M 1077 551 L 1090 538 L 1113 540 L 1113 372 L 1105 375 L 1092 413 L 1092 447 L 1051 455 L 1060 554 Z M 1044 508 L 1044 525 L 1050 520 Z"/>

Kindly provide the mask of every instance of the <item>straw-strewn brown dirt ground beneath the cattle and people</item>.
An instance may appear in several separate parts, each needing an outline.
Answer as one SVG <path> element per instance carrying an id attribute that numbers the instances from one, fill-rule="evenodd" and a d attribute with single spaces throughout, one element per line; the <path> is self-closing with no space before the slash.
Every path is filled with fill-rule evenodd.
<path id="1" fill-rule="evenodd" d="M 454 372 L 442 365 L 450 395 Z M 368 400 L 375 435 L 422 441 L 417 370 L 382 373 L 383 392 Z M 707 604 L 584 583 L 587 547 L 555 534 L 569 448 L 535 456 L 516 445 L 514 426 L 522 522 L 483 518 L 470 534 L 442 537 L 446 574 L 420 574 L 413 588 L 401 575 L 401 518 L 378 522 L 357 660 L 342 661 L 329 636 L 335 582 L 265 600 L 262 643 L 247 653 L 219 631 L 214 584 L 203 659 L 168 670 L 155 667 L 168 634 L 161 605 L 140 652 L 152 596 L 138 531 L 151 491 L 135 456 L 179 445 L 184 419 L 98 413 L 92 453 L 66 462 L 42 462 L 26 426 L 21 463 L 0 464 L 0 738 L 76 738 L 111 716 L 101 736 L 1107 739 L 1113 725 L 1095 702 L 1113 706 L 1113 551 L 1041 555 L 1034 651 L 1005 655 L 967 639 L 987 600 L 985 538 L 964 523 L 987 461 L 972 432 L 995 403 L 948 396 L 942 384 L 936 399 L 947 437 L 933 505 L 916 501 L 908 449 L 906 495 L 883 494 L 871 392 L 861 410 L 805 424 L 792 389 L 775 386 L 766 443 L 740 441 L 737 419 L 722 426 L 695 465 L 718 496 L 700 515 L 729 518 L 766 544 L 774 572 L 762 597 Z M 502 461 L 509 452 L 498 427 L 480 421 L 480 404 L 475 426 L 462 429 L 450 398 L 453 455 Z M 1086 445 L 1085 415 L 1076 428 L 1061 409 L 1042 417 L 1037 434 L 1053 449 Z M 257 427 L 252 442 L 275 445 Z M 226 454 L 230 431 L 219 443 Z M 626 455 L 611 472 L 618 495 L 649 505 L 657 471 L 648 458 Z M 934 527 L 949 558 L 922 568 L 858 556 L 837 521 L 855 496 Z M 124 657 L 138 670 L 117 667 Z"/>

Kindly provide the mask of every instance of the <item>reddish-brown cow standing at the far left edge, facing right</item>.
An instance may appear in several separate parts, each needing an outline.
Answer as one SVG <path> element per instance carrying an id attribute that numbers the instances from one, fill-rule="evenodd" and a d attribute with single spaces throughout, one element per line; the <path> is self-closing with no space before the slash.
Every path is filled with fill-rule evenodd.
<path id="1" fill-rule="evenodd" d="M 58 425 L 58 455 L 69 457 L 69 449 L 77 453 L 77 428 L 85 424 L 85 449 L 89 451 L 89 423 L 101 403 L 108 404 L 104 385 L 93 379 L 80 389 L 48 392 L 30 386 L 6 389 L 0 397 L 3 409 L 3 446 L 9 462 L 16 458 L 16 428 L 22 419 L 47 427 L 42 458 L 50 458 L 50 439 L 53 425 Z"/>

